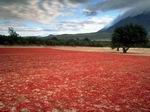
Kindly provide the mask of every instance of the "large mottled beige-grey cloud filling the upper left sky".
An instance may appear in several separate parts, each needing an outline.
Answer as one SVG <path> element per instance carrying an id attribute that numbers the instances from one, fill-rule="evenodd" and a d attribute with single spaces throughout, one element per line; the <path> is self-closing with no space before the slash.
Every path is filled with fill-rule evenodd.
<path id="1" fill-rule="evenodd" d="M 50 23 L 64 8 L 77 8 L 89 0 L 0 0 L 0 19 L 21 19 Z M 67 12 L 66 12 L 67 13 Z"/>

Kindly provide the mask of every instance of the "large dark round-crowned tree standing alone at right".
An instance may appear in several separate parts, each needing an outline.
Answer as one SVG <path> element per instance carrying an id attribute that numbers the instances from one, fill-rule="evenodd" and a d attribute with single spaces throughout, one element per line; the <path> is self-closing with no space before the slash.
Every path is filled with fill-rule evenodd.
<path id="1" fill-rule="evenodd" d="M 126 53 L 130 47 L 140 47 L 148 43 L 146 30 L 136 24 L 118 27 L 112 34 L 112 49 L 122 48 Z"/>

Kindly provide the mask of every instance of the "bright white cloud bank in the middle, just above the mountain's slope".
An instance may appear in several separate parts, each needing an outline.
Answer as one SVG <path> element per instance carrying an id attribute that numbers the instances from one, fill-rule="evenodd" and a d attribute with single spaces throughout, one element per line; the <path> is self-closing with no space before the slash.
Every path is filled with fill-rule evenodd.
<path id="1" fill-rule="evenodd" d="M 103 28 L 106 24 L 112 22 L 114 18 L 105 16 L 105 17 L 91 17 L 88 20 L 70 20 L 70 21 L 62 21 L 56 24 L 56 32 L 60 34 L 63 33 L 88 33 L 88 32 L 96 32 Z"/>

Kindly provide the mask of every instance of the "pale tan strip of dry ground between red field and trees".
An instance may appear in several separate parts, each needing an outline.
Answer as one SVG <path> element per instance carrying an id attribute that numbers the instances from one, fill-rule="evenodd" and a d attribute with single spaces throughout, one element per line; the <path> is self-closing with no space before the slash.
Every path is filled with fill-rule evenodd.
<path id="1" fill-rule="evenodd" d="M 108 52 L 114 54 L 123 54 L 122 49 L 116 51 L 116 49 L 111 49 L 110 47 L 69 47 L 69 46 L 0 46 L 0 48 L 52 48 L 60 50 L 71 50 L 71 51 L 86 51 L 86 52 Z M 142 55 L 150 56 L 150 48 L 130 48 L 125 55 Z"/>

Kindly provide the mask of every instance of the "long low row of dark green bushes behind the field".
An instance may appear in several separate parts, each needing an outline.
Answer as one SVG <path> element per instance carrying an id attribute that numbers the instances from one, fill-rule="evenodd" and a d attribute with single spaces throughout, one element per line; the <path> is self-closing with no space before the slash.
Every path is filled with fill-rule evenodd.
<path id="1" fill-rule="evenodd" d="M 0 35 L 1 45 L 45 45 L 45 46 L 93 46 L 93 47 L 110 47 L 109 41 L 92 41 L 84 39 L 58 39 L 56 37 L 12 37 Z"/>

